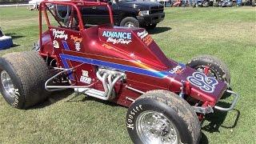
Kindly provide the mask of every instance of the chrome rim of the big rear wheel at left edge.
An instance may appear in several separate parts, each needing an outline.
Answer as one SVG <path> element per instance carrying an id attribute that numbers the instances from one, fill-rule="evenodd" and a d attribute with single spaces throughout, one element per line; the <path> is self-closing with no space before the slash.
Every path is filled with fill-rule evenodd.
<path id="1" fill-rule="evenodd" d="M 10 98 L 14 98 L 16 96 L 14 83 L 12 82 L 10 75 L 6 72 L 6 70 L 2 70 L 1 72 L 1 82 L 3 90 L 5 90 L 6 94 Z"/>

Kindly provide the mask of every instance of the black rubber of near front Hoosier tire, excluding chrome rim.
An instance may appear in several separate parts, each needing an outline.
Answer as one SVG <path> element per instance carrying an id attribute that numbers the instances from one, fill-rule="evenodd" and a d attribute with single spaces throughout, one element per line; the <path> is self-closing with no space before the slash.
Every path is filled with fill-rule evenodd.
<path id="1" fill-rule="evenodd" d="M 177 94 L 167 90 L 153 90 L 142 94 L 140 98 L 132 103 L 126 114 L 127 130 L 134 143 L 143 143 L 138 134 L 137 123 L 141 115 L 148 111 L 163 114 L 174 125 L 172 128 L 176 128 L 175 130 L 177 130 L 176 132 L 182 143 L 194 144 L 199 142 L 201 128 L 198 116 L 193 108 Z"/>

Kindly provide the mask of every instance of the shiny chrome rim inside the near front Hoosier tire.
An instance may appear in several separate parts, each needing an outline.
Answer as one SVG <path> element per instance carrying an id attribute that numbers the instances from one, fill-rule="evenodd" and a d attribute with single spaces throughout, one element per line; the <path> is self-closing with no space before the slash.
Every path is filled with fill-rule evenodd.
<path id="1" fill-rule="evenodd" d="M 178 130 L 173 122 L 162 113 L 148 110 L 138 115 L 136 120 L 138 137 L 144 144 L 178 144 Z"/>

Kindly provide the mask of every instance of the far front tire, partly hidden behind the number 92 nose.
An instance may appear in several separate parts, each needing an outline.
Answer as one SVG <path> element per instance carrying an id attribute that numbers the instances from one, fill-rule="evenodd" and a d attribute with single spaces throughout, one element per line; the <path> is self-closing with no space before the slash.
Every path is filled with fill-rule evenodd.
<path id="1" fill-rule="evenodd" d="M 230 84 L 230 70 L 224 62 L 210 55 L 202 55 L 196 58 L 192 58 L 190 62 L 186 64 L 195 70 L 208 66 L 214 77 L 222 82 Z"/>

